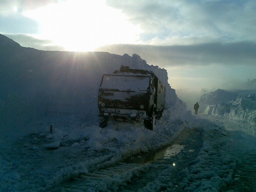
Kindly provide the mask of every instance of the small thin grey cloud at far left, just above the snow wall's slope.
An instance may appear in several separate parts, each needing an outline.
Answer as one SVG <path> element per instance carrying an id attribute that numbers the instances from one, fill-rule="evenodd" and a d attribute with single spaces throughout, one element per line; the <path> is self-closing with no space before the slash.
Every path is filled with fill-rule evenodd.
<path id="1" fill-rule="evenodd" d="M 3 34 L 22 47 L 31 47 L 43 51 L 66 51 L 64 47 L 56 45 L 51 40 L 37 39 L 27 34 Z"/>

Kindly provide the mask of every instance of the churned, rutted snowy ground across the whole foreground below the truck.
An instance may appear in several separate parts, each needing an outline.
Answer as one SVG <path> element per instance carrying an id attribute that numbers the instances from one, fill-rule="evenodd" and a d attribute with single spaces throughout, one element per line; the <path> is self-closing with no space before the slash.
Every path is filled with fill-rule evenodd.
<path id="1" fill-rule="evenodd" d="M 171 121 L 166 111 L 150 131 L 142 122 L 101 129 L 90 116 L 52 116 L 27 130 L 13 142 L 1 138 L 1 191 L 231 192 L 250 191 L 255 181 L 253 174 L 244 180 L 255 136 L 224 117 Z M 168 152 L 173 144 L 176 156 Z"/>

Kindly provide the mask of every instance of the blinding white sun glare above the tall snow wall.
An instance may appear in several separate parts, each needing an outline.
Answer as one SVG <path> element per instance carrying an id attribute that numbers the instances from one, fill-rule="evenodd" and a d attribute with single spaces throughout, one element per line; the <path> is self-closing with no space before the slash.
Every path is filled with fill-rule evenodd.
<path id="1" fill-rule="evenodd" d="M 25 15 L 40 23 L 41 38 L 51 39 L 67 51 L 94 51 L 106 44 L 132 44 L 141 32 L 120 10 L 106 6 L 104 0 L 70 0 Z"/>

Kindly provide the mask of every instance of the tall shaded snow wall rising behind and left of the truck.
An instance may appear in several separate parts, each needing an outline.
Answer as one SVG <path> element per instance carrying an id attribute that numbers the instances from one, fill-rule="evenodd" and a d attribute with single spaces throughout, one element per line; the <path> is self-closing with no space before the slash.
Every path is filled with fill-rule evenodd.
<path id="1" fill-rule="evenodd" d="M 149 66 L 139 55 L 108 52 L 39 51 L 0 35 L 0 126 L 22 126 L 46 115 L 98 115 L 101 77 L 121 65 L 153 71 L 166 86 L 166 109 L 172 119 L 186 104 L 168 84 L 167 71 Z M 167 111 L 167 110 L 166 110 Z"/>

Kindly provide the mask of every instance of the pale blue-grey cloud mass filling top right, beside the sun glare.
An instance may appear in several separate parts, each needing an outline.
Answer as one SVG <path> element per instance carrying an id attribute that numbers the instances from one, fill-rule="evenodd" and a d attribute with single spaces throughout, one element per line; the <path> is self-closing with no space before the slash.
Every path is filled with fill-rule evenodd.
<path id="1" fill-rule="evenodd" d="M 211 37 L 222 42 L 255 42 L 256 39 L 256 2 L 253 0 L 107 0 L 107 5 L 122 10 L 130 22 L 139 25 L 144 30 L 140 40 L 147 43 L 154 39 L 155 44 L 157 39 L 172 45 L 175 36 L 196 37 L 197 40 Z M 179 44 L 178 41 L 175 43 Z"/>

